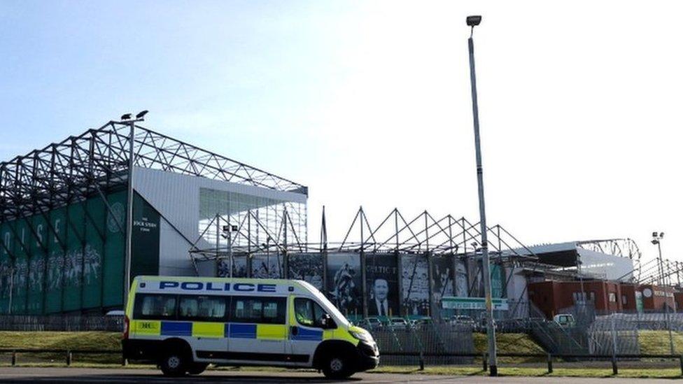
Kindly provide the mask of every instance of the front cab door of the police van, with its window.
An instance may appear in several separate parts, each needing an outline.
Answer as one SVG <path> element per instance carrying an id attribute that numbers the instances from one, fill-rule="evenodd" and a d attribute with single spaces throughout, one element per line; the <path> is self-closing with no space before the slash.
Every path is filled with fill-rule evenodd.
<path id="1" fill-rule="evenodd" d="M 323 341 L 325 330 L 321 320 L 327 312 L 307 297 L 290 297 L 289 307 L 290 365 L 310 367 L 316 348 Z"/>

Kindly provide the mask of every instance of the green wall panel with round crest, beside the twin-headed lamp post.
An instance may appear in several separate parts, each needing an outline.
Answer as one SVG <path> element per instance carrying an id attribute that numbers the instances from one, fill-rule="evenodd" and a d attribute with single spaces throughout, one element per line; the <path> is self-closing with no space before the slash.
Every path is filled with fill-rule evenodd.
<path id="1" fill-rule="evenodd" d="M 112 212 L 107 211 L 102 266 L 102 305 L 106 307 L 123 305 L 126 192 L 110 194 L 108 201 Z"/>

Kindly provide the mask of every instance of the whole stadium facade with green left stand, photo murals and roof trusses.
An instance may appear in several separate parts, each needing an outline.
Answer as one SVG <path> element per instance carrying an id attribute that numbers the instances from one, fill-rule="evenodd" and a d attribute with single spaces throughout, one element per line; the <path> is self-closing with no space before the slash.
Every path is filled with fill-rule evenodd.
<path id="1" fill-rule="evenodd" d="M 304 185 L 128 121 L 17 156 L 0 163 L 0 315 L 120 309 L 127 270 L 298 278 L 351 319 L 481 315 L 463 299 L 484 295 L 477 222 L 395 209 L 371 226 L 360 208 L 338 243 L 323 213 L 311 243 L 307 197 Z M 529 283 L 642 280 L 632 241 L 527 247 L 500 225 L 488 231 L 493 297 L 508 308 L 497 316 L 529 315 Z"/>

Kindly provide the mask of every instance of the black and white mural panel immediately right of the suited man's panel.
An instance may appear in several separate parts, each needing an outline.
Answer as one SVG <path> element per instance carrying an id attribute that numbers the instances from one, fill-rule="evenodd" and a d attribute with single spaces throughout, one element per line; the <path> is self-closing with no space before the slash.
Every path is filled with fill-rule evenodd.
<path id="1" fill-rule="evenodd" d="M 429 309 L 429 274 L 425 255 L 403 255 L 402 300 L 407 316 L 427 316 Z"/>

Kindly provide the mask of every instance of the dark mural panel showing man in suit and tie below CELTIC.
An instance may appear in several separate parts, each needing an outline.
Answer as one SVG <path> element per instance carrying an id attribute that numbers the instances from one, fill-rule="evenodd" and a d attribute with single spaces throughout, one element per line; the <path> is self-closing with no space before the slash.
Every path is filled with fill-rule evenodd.
<path id="1" fill-rule="evenodd" d="M 400 315 L 398 259 L 393 253 L 365 256 L 367 315 L 381 318 Z"/>

